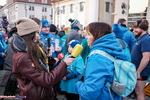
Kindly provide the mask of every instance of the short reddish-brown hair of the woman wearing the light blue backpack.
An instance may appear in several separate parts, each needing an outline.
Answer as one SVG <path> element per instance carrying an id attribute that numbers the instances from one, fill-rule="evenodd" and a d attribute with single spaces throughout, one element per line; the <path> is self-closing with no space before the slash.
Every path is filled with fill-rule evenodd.
<path id="1" fill-rule="evenodd" d="M 112 32 L 111 26 L 104 22 L 90 23 L 86 29 L 93 35 L 95 40 Z"/>

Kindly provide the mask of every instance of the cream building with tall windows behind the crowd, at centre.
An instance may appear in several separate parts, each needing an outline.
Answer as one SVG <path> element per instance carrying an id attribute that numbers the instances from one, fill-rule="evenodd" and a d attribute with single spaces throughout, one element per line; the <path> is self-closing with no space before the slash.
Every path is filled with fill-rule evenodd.
<path id="1" fill-rule="evenodd" d="M 53 0 L 51 23 L 70 26 L 69 18 L 78 19 L 83 27 L 91 22 L 112 24 L 114 0 Z"/>

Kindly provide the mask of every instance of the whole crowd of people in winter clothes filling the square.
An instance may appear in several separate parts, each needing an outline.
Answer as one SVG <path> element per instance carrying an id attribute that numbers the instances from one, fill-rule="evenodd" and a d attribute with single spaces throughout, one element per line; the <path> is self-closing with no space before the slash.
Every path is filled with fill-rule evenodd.
<path id="1" fill-rule="evenodd" d="M 133 93 L 137 100 L 145 100 L 144 88 L 150 76 L 148 21 L 134 22 L 132 31 L 123 18 L 113 26 L 92 22 L 85 29 L 77 19 L 69 22 L 70 27 L 61 26 L 59 30 L 47 20 L 21 18 L 10 27 L 7 17 L 3 17 L 0 95 L 19 93 L 26 96 L 23 100 L 58 100 L 61 91 L 67 100 L 122 100 L 106 87 L 107 82 L 113 82 L 114 62 L 93 54 L 101 50 L 135 65 L 137 83 Z M 71 53 L 77 44 L 83 50 L 73 58 Z M 59 58 L 61 53 L 63 59 Z"/>

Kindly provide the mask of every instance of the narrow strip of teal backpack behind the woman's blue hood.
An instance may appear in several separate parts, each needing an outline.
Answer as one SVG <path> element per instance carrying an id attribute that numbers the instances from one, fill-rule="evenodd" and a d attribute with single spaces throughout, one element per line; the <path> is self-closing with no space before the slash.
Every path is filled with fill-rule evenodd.
<path id="1" fill-rule="evenodd" d="M 125 54 L 127 54 L 127 56 L 128 56 L 128 61 L 131 62 L 131 53 L 130 53 L 130 49 L 129 49 L 128 44 L 127 44 L 125 41 L 123 41 L 120 37 L 116 37 L 116 38 L 119 40 L 119 43 L 120 43 L 121 46 L 122 46 L 123 52 L 124 52 Z"/>

